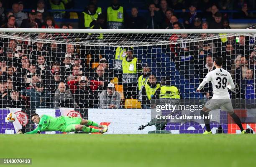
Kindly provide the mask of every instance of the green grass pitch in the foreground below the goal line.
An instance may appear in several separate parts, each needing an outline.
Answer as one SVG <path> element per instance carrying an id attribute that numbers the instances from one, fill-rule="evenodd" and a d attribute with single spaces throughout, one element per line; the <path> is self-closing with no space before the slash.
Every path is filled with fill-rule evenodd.
<path id="1" fill-rule="evenodd" d="M 256 135 L 0 135 L 15 167 L 255 167 Z M 14 165 L 0 165 L 11 167 Z"/>

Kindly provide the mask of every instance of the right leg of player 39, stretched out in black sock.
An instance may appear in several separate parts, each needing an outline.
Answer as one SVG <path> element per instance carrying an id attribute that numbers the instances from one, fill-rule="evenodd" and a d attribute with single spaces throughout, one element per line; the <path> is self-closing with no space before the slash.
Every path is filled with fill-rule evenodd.
<path id="1" fill-rule="evenodd" d="M 246 131 L 243 129 L 242 122 L 241 122 L 240 118 L 234 112 L 231 100 L 228 99 L 227 102 L 225 104 L 223 104 L 220 108 L 221 108 L 221 110 L 228 112 L 228 114 L 230 115 L 230 117 L 232 117 L 234 122 L 236 122 L 236 125 L 238 125 L 238 127 L 240 128 L 242 133 L 246 133 Z"/>

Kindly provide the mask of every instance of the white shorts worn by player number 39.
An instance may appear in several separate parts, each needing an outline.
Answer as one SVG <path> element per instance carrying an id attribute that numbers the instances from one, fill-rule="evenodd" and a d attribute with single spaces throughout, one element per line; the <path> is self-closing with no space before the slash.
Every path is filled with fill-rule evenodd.
<path id="1" fill-rule="evenodd" d="M 205 107 L 209 110 L 221 109 L 226 112 L 234 112 L 231 99 L 211 99 L 205 103 Z"/>

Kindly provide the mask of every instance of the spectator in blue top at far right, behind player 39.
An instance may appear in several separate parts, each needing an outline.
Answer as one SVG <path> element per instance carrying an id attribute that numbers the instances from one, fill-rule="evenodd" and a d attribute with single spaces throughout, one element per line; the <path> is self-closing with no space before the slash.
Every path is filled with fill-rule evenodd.
<path id="1" fill-rule="evenodd" d="M 256 78 L 253 70 L 247 69 L 245 79 L 241 80 L 241 98 L 256 99 Z"/>

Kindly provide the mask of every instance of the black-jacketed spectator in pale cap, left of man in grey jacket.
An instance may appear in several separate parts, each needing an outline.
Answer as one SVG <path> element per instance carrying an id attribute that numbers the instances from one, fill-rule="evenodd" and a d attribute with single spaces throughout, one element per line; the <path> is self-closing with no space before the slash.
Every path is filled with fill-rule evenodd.
<path id="1" fill-rule="evenodd" d="M 90 89 L 90 82 L 87 77 L 81 77 L 77 89 L 74 91 L 75 102 L 83 111 L 93 108 L 93 92 Z M 86 111 L 85 111 L 86 112 Z"/>

